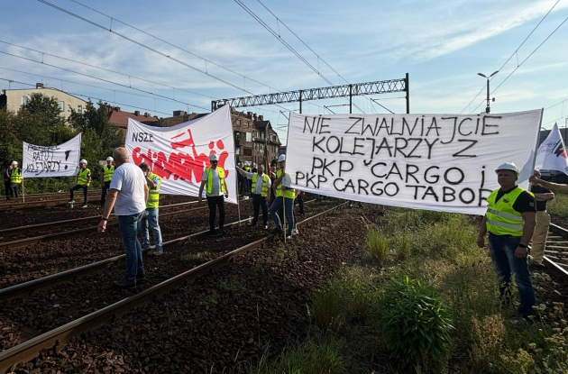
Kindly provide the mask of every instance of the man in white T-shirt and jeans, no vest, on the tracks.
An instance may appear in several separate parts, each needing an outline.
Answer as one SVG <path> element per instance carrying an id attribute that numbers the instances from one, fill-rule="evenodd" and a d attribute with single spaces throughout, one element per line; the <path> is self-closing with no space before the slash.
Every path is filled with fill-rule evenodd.
<path id="1" fill-rule="evenodd" d="M 138 240 L 138 230 L 142 214 L 146 210 L 148 186 L 142 169 L 128 159 L 128 152 L 123 147 L 113 151 L 115 174 L 111 179 L 110 190 L 105 202 L 105 209 L 98 223 L 99 233 L 106 231 L 108 217 L 115 207 L 118 226 L 123 235 L 124 253 L 126 254 L 126 271 L 124 279 L 115 282 L 119 288 L 136 287 L 136 279 L 144 278 L 142 246 Z"/>

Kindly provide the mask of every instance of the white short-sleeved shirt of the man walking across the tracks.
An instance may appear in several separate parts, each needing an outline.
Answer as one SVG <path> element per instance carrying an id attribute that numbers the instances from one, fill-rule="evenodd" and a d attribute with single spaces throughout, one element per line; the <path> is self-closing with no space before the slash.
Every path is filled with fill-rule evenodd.
<path id="1" fill-rule="evenodd" d="M 110 188 L 117 189 L 115 202 L 116 215 L 138 214 L 146 209 L 144 196 L 146 178 L 142 169 L 127 162 L 115 169 Z"/>

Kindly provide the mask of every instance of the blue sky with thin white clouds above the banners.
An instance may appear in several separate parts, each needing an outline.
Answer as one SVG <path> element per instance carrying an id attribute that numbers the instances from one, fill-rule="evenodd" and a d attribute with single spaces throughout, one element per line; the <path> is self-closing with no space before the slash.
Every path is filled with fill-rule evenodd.
<path id="1" fill-rule="evenodd" d="M 167 117 L 208 112 L 215 99 L 408 73 L 411 113 L 472 114 L 486 106 L 486 80 L 477 73 L 499 70 L 490 81 L 491 113 L 545 108 L 543 127 L 562 128 L 567 18 L 568 0 L 5 1 L 0 88 L 41 82 Z M 403 96 L 358 96 L 353 113 L 388 113 L 380 105 L 405 113 Z M 347 104 L 335 98 L 302 109 L 349 113 Z M 285 142 L 298 103 L 238 109 L 263 115 Z"/>

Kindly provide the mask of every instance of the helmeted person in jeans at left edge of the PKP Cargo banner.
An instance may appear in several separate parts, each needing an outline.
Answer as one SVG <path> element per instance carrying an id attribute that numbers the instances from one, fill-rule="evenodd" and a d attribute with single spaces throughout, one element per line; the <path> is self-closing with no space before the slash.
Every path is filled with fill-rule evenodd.
<path id="1" fill-rule="evenodd" d="M 296 197 L 296 190 L 291 187 L 292 179 L 288 173 L 284 172 L 286 168 L 286 155 L 280 155 L 278 158 L 278 171 L 276 172 L 276 180 L 272 188 L 276 188 L 276 199 L 270 205 L 269 214 L 276 223 L 276 228 L 272 233 L 282 233 L 282 223 L 280 222 L 277 212 L 281 207 L 284 207 L 286 214 L 286 221 L 288 223 L 286 239 L 292 238 L 292 231 L 294 229 L 294 198 Z M 283 221 L 283 219 L 282 219 Z"/>

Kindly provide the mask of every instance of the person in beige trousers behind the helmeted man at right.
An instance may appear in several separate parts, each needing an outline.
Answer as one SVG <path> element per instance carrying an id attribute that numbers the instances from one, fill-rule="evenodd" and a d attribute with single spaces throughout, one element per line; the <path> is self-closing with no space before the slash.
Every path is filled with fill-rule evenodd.
<path id="1" fill-rule="evenodd" d="M 540 171 L 535 170 L 533 177 L 540 180 Z M 546 202 L 554 200 L 554 193 L 550 189 L 536 184 L 533 184 L 530 192 L 535 195 L 536 200 L 536 227 L 530 249 L 531 265 L 540 268 L 545 266 L 543 258 L 545 257 L 548 226 L 550 226 L 550 214 L 546 212 Z"/>

